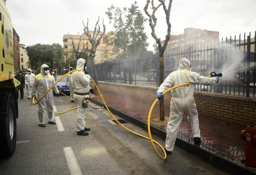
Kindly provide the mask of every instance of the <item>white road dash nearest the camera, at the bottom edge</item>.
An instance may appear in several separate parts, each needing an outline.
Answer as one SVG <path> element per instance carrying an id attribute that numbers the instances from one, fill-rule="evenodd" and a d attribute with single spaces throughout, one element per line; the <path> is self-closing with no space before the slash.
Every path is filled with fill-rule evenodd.
<path id="1" fill-rule="evenodd" d="M 71 175 L 82 175 L 81 169 L 79 167 L 79 164 L 77 162 L 76 156 L 73 153 L 73 150 L 71 147 L 65 147 L 63 148 L 65 157 L 67 159 L 68 168 Z"/>

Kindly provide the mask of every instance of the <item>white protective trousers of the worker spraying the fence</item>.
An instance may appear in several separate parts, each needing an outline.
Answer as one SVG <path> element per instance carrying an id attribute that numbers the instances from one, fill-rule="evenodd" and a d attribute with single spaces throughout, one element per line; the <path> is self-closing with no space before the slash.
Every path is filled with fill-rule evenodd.
<path id="1" fill-rule="evenodd" d="M 184 112 L 188 114 L 188 121 L 191 123 L 193 138 L 200 137 L 198 113 L 194 97 L 190 96 L 185 99 L 173 97 L 170 103 L 170 118 L 167 124 L 165 140 L 165 148 L 167 151 L 173 151 Z"/>

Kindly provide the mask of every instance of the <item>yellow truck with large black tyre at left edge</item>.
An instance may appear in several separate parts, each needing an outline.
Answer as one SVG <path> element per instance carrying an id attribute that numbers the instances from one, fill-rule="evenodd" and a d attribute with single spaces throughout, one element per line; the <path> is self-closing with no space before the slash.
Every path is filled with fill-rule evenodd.
<path id="1" fill-rule="evenodd" d="M 0 24 L 0 155 L 10 156 L 16 148 L 16 90 L 20 82 L 14 78 L 13 25 L 5 0 L 0 0 Z"/>

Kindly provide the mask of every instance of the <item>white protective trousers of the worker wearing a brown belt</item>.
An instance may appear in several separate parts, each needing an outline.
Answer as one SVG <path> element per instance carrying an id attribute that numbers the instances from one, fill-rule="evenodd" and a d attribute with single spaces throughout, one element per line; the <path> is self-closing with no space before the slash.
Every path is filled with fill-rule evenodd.
<path id="1" fill-rule="evenodd" d="M 89 97 L 89 95 L 76 95 L 74 94 L 73 99 L 77 103 L 77 131 L 84 130 L 85 126 L 85 114 L 87 108 L 83 108 L 82 102 L 84 97 Z"/>

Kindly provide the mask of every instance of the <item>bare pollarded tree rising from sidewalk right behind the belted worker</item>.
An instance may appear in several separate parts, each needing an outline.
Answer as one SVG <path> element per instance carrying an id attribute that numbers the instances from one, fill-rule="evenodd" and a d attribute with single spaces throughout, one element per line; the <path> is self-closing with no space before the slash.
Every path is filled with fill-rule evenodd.
<path id="1" fill-rule="evenodd" d="M 96 85 L 98 86 L 98 76 L 97 76 L 97 70 L 95 67 L 95 52 L 96 52 L 96 48 L 98 47 L 98 45 L 100 44 L 100 40 L 102 38 L 102 36 L 105 34 L 106 31 L 106 27 L 104 25 L 104 19 L 102 19 L 102 25 L 103 25 L 103 32 L 100 34 L 100 25 L 99 25 L 99 21 L 100 21 L 100 17 L 98 18 L 98 21 L 95 24 L 94 27 L 94 32 L 91 35 L 89 33 L 89 28 L 88 28 L 88 18 L 87 18 L 87 25 L 85 26 L 84 23 L 84 34 L 88 37 L 89 42 L 91 43 L 91 49 L 90 49 L 90 54 L 89 54 L 89 60 L 91 61 L 92 64 L 92 70 L 93 70 L 93 77 L 94 77 L 94 81 L 96 83 Z M 98 26 L 98 29 L 97 29 Z M 96 33 L 97 30 L 97 33 Z M 99 36 L 100 35 L 100 36 Z M 98 37 L 99 36 L 99 37 Z M 88 49 L 88 42 L 86 43 L 87 47 L 86 50 Z M 99 92 L 97 91 L 96 88 L 95 89 L 95 95 L 99 95 Z"/>

